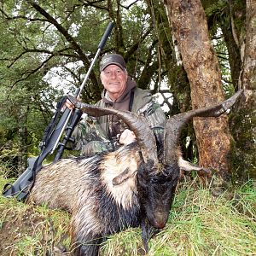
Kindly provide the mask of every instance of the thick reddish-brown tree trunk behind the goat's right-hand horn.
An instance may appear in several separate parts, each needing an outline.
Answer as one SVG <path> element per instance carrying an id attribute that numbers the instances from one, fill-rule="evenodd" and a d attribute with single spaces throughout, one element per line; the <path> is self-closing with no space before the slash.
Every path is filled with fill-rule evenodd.
<path id="1" fill-rule="evenodd" d="M 191 87 L 192 108 L 211 106 L 224 100 L 218 59 L 208 36 L 207 20 L 200 0 L 166 0 L 172 31 L 183 58 Z M 226 115 L 193 120 L 199 148 L 199 164 L 230 176 L 230 130 Z"/>

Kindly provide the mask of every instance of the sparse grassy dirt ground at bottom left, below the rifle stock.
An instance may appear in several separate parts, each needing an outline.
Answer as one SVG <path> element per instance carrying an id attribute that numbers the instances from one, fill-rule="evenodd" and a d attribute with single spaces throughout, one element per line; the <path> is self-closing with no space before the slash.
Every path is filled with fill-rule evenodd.
<path id="1" fill-rule="evenodd" d="M 7 180 L 0 178 L 0 187 Z M 10 181 L 9 181 L 10 182 Z M 70 247 L 67 212 L 0 197 L 0 252 L 8 255 L 52 255 L 59 244 Z"/>

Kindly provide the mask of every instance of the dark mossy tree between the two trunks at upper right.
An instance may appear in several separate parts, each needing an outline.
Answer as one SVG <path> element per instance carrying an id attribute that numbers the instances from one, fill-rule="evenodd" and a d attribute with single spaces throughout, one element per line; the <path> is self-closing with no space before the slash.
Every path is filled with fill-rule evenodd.
<path id="1" fill-rule="evenodd" d="M 215 40 L 223 38 L 226 59 L 230 64 L 230 80 L 226 81 L 237 89 L 241 73 L 241 47 L 244 33 L 246 1 L 201 1 L 207 15 L 210 34 Z M 217 38 L 218 37 L 218 38 Z M 227 90 L 227 88 L 224 88 Z"/>

